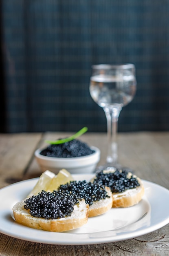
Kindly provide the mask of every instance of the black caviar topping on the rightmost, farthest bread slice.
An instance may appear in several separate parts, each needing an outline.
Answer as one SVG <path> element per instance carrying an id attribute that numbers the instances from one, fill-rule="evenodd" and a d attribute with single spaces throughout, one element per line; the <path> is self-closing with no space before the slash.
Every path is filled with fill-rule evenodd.
<path id="1" fill-rule="evenodd" d="M 114 173 L 96 173 L 94 183 L 110 187 L 112 193 L 121 193 L 127 189 L 134 189 L 140 186 L 136 177 L 127 177 L 128 171 L 125 169 L 114 171 Z"/>

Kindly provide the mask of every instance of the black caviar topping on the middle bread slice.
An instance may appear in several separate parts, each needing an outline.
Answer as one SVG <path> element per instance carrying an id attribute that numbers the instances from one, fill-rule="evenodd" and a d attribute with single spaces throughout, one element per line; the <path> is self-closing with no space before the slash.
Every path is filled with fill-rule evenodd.
<path id="1" fill-rule="evenodd" d="M 61 193 L 70 193 L 76 195 L 77 199 L 85 200 L 86 204 L 92 205 L 93 202 L 101 199 L 110 198 L 105 190 L 105 186 L 99 184 L 93 184 L 91 182 L 83 181 L 71 181 L 65 185 L 61 185 L 58 188 Z"/>

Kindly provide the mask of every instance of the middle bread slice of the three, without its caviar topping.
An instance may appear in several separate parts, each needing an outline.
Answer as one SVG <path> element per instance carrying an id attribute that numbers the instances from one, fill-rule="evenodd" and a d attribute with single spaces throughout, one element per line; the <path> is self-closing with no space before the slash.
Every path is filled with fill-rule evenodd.
<path id="1" fill-rule="evenodd" d="M 110 188 L 105 188 L 110 198 L 106 197 L 99 201 L 94 202 L 89 206 L 89 217 L 94 217 L 106 213 L 112 208 L 113 197 Z"/>

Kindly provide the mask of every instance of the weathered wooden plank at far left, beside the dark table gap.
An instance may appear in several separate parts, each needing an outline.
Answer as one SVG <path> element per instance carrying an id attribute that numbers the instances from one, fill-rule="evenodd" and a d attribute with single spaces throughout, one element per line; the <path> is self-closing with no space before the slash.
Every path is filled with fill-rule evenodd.
<path id="1" fill-rule="evenodd" d="M 0 188 L 23 179 L 41 133 L 0 134 Z"/>

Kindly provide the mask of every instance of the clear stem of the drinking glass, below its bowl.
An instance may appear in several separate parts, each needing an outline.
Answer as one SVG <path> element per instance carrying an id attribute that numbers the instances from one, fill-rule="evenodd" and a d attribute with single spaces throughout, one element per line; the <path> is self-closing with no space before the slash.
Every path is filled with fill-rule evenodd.
<path id="1" fill-rule="evenodd" d="M 103 108 L 105 111 L 108 127 L 108 155 L 106 162 L 109 166 L 116 166 L 118 164 L 118 148 L 117 148 L 117 127 L 118 119 L 121 112 L 121 107 Z"/>

